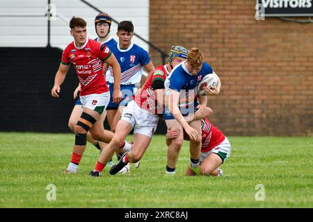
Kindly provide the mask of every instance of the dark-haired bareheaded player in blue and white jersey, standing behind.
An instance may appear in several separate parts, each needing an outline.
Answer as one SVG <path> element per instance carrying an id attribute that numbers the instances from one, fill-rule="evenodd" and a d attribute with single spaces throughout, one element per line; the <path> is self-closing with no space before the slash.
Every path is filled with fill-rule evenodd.
<path id="1" fill-rule="evenodd" d="M 147 73 L 154 70 L 154 65 L 149 54 L 143 48 L 131 42 L 134 35 L 134 25 L 131 21 L 122 21 L 118 24 L 118 44 L 112 46 L 110 50 L 117 58 L 121 67 L 120 91 L 122 92 L 122 101 L 114 103 L 110 100 L 107 107 L 107 117 L 111 131 L 115 132 L 116 124 L 122 115 L 122 110 L 132 99 L 136 90 L 140 87 L 143 76 L 142 69 Z M 112 69 L 109 67 L 112 71 Z M 111 77 L 112 77 L 111 73 Z M 109 78 L 110 92 L 113 92 L 113 79 Z"/>

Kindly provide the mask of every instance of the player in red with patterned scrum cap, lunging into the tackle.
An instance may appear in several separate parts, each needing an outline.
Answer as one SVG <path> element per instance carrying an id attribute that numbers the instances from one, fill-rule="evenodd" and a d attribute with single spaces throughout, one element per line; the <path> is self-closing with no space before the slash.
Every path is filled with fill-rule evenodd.
<path id="1" fill-rule="evenodd" d="M 182 46 L 172 46 L 171 53 L 175 53 L 176 56 L 169 56 L 172 59 L 169 60 L 168 65 L 161 65 L 150 73 L 145 85 L 136 94 L 134 101 L 131 101 L 123 110 L 113 139 L 100 155 L 95 169 L 90 172 L 89 176 L 100 176 L 99 173 L 102 172 L 115 149 L 119 147 L 120 143 L 124 141 L 125 137 L 127 137 L 133 128 L 134 146 L 131 151 L 122 155 L 117 164 L 111 167 L 111 175 L 118 173 L 129 162 L 136 163 L 143 157 L 151 142 L 152 135 L 157 129 L 157 123 L 159 121 L 157 114 L 163 114 L 163 91 L 166 76 L 168 76 L 173 67 L 186 60 L 188 50 Z"/>

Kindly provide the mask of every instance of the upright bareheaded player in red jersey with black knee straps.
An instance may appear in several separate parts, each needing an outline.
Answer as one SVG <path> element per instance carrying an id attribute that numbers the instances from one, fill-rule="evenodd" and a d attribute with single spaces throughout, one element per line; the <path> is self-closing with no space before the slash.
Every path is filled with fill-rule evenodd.
<path id="1" fill-rule="evenodd" d="M 94 139 L 104 142 L 111 141 L 113 133 L 104 130 L 103 122 L 97 121 L 109 103 L 110 93 L 102 74 L 103 64 L 106 62 L 113 68 L 115 92 L 113 99 L 120 101 L 120 65 L 110 49 L 105 44 L 100 44 L 87 38 L 86 21 L 79 17 L 70 20 L 70 33 L 74 41 L 67 45 L 63 51 L 60 67 L 56 72 L 54 87 L 51 96 L 58 98 L 61 84 L 65 80 L 70 64 L 74 65 L 77 77 L 81 84 L 80 99 L 83 113 L 75 126 L 75 145 L 72 160 L 66 173 L 76 173 L 79 162 L 86 148 L 87 132 Z"/>

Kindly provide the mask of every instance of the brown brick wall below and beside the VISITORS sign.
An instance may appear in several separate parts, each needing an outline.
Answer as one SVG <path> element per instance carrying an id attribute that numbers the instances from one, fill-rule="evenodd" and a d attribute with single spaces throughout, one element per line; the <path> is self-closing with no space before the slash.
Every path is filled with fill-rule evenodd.
<path id="1" fill-rule="evenodd" d="M 226 135 L 313 135 L 313 24 L 257 21 L 250 0 L 151 0 L 150 41 L 202 50 L 222 81 L 211 122 Z"/>

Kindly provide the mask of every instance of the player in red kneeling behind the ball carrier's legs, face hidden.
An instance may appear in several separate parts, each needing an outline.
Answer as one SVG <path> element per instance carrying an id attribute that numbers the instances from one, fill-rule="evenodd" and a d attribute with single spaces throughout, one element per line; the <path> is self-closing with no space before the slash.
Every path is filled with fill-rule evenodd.
<path id="1" fill-rule="evenodd" d="M 210 108 L 206 108 L 204 115 L 210 114 Z M 218 168 L 230 156 L 231 145 L 227 137 L 218 130 L 207 118 L 201 119 L 202 145 L 200 155 L 200 175 L 222 176 L 223 171 Z M 170 139 L 178 137 L 178 130 L 168 130 L 166 134 L 167 143 Z M 184 139 L 189 140 L 189 136 L 184 132 Z M 195 176 L 195 172 L 188 164 L 185 176 Z"/>

